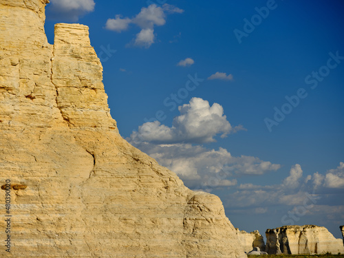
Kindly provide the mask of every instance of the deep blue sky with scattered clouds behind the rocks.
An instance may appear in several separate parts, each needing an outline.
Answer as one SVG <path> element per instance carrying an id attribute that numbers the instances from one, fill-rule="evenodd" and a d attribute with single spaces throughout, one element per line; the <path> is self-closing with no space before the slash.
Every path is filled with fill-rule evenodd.
<path id="1" fill-rule="evenodd" d="M 241 230 L 341 237 L 343 1 L 50 2 L 50 43 L 55 23 L 89 26 L 123 138 Z"/>

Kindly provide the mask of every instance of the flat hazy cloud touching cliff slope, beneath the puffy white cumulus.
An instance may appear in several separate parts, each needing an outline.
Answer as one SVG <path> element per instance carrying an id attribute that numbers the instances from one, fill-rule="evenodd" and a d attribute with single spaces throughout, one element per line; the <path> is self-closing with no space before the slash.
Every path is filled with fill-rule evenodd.
<path id="1" fill-rule="evenodd" d="M 128 140 L 131 142 L 130 139 Z M 224 148 L 215 150 L 182 143 L 131 143 L 158 160 L 162 166 L 177 173 L 185 184 L 193 189 L 235 186 L 237 185 L 236 177 L 262 175 L 281 167 L 279 164 L 272 164 L 251 156 L 235 157 Z"/>

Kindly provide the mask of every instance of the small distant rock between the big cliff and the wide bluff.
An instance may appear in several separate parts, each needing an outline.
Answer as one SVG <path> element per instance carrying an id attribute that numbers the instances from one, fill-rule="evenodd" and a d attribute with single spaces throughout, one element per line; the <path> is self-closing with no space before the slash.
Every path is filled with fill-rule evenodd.
<path id="1" fill-rule="evenodd" d="M 245 230 L 239 230 L 239 228 L 235 228 L 235 230 L 237 230 L 237 236 L 245 252 L 250 252 L 255 247 L 258 247 L 262 251 L 265 250 L 264 237 L 260 235 L 258 230 L 252 231 L 251 233 L 247 233 Z"/>

